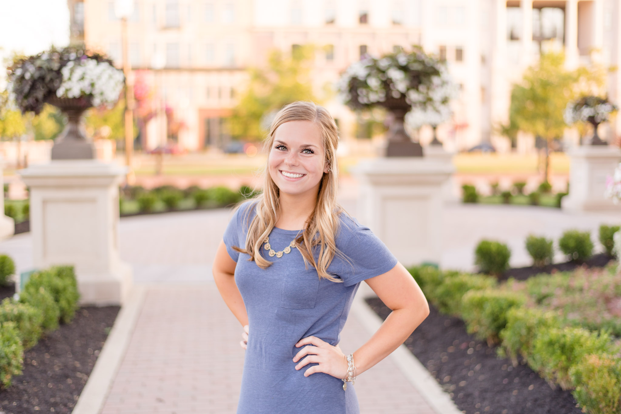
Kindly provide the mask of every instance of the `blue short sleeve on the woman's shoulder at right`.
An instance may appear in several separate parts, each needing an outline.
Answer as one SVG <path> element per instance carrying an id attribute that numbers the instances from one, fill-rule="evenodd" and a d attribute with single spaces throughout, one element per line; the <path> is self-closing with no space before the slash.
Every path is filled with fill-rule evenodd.
<path id="1" fill-rule="evenodd" d="M 353 286 L 394 268 L 397 258 L 371 230 L 351 217 L 343 217 L 337 236 L 337 248 L 346 257 L 335 255 L 329 272 Z"/>

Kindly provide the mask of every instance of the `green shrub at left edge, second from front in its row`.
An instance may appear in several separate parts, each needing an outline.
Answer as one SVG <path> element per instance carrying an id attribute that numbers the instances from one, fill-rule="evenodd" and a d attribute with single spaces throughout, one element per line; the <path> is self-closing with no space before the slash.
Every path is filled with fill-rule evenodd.
<path id="1" fill-rule="evenodd" d="M 24 349 L 34 346 L 41 337 L 43 313 L 29 304 L 6 298 L 0 304 L 0 323 L 15 322 Z"/>

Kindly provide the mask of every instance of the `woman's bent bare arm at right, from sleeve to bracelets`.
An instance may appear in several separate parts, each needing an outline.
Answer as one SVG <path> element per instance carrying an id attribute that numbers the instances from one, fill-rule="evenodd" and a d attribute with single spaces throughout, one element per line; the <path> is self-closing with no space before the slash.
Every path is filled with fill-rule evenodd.
<path id="1" fill-rule="evenodd" d="M 353 353 L 356 374 L 365 372 L 399 348 L 429 315 L 425 295 L 401 263 L 384 274 L 366 279 L 366 283 L 392 312 L 376 333 Z"/>

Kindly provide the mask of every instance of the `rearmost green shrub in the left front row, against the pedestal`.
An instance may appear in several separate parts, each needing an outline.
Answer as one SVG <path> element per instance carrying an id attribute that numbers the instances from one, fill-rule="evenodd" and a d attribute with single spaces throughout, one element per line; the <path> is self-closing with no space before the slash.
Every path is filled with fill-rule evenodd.
<path id="1" fill-rule="evenodd" d="M 60 320 L 69 323 L 78 309 L 78 285 L 71 266 L 58 266 L 36 272 L 27 284 L 43 287 L 50 292 L 60 310 Z"/>

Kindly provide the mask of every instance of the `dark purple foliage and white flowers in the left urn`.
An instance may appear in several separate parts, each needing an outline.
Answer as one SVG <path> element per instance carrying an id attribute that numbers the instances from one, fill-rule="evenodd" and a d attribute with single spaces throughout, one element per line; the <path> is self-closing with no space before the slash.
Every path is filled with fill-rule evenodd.
<path id="1" fill-rule="evenodd" d="M 39 112 L 55 98 L 83 98 L 109 107 L 119 99 L 125 77 L 112 61 L 81 47 L 52 48 L 14 61 L 7 68 L 9 92 L 22 112 Z"/>

